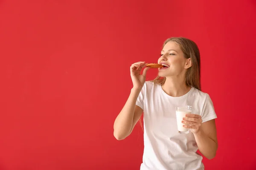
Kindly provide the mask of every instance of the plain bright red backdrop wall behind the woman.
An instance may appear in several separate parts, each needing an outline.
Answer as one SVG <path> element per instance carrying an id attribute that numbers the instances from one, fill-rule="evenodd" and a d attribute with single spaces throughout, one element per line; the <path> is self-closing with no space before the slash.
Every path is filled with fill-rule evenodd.
<path id="1" fill-rule="evenodd" d="M 130 65 L 173 36 L 198 44 L 218 115 L 206 169 L 255 170 L 255 23 L 255 0 L 1 0 L 0 170 L 139 170 L 140 125 L 117 141 L 113 122 Z"/>

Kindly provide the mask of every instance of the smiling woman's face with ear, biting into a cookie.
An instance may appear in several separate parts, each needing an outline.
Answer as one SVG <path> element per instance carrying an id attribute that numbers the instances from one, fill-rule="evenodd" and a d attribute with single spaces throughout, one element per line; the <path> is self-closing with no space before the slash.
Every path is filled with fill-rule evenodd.
<path id="1" fill-rule="evenodd" d="M 165 67 L 159 68 L 158 75 L 160 77 L 179 76 L 186 73 L 186 69 L 191 66 L 190 58 L 186 59 L 179 45 L 170 41 L 164 45 L 161 51 L 161 57 L 158 59 L 158 64 Z"/>

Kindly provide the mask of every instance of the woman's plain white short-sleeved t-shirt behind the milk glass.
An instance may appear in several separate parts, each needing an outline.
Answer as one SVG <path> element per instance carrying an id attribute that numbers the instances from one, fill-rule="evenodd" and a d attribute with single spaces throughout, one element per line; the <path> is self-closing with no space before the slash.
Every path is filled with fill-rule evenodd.
<path id="1" fill-rule="evenodd" d="M 217 118 L 207 93 L 196 88 L 179 97 L 166 94 L 161 85 L 145 82 L 136 105 L 144 112 L 144 153 L 140 170 L 204 170 L 196 153 L 194 134 L 177 130 L 175 105 L 190 105 L 203 122 Z"/>

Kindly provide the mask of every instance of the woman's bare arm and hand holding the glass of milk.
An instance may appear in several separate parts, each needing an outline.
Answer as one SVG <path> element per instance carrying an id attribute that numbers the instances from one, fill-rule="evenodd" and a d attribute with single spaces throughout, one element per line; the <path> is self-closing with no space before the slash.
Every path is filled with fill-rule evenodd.
<path id="1" fill-rule="evenodd" d="M 218 148 L 215 119 L 201 123 L 201 116 L 189 114 L 184 118 L 184 127 L 190 128 L 194 133 L 199 151 L 207 158 L 213 159 Z"/>

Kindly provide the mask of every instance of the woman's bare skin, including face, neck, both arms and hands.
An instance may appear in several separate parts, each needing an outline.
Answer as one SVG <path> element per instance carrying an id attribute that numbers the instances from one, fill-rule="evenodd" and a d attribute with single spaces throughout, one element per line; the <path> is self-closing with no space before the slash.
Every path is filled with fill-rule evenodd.
<path id="1" fill-rule="evenodd" d="M 185 82 L 186 71 L 192 66 L 191 59 L 184 57 L 183 52 L 175 42 L 166 43 L 161 51 L 158 63 L 165 63 L 170 66 L 169 68 L 159 68 L 158 73 L 159 76 L 166 77 L 166 82 L 162 85 L 166 94 L 174 97 L 183 96 L 191 89 Z M 146 64 L 145 62 L 136 62 L 130 67 L 133 88 L 114 122 L 114 136 L 117 140 L 125 139 L 131 134 L 143 113 L 143 110 L 136 105 L 136 100 L 145 83 L 146 72 L 149 69 L 146 67 L 143 74 L 140 74 Z M 194 134 L 201 154 L 207 159 L 214 158 L 218 148 L 215 119 L 202 123 L 201 116 L 192 113 L 187 114 L 182 123 L 184 127 L 190 128 Z"/>

